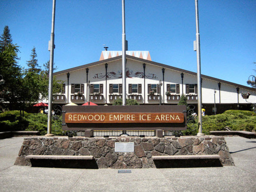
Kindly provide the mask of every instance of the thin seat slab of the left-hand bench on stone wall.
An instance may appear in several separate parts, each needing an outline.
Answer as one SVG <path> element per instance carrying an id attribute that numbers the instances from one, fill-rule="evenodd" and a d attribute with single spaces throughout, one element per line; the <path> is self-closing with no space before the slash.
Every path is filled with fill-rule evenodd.
<path id="1" fill-rule="evenodd" d="M 92 155 L 27 155 L 26 159 L 51 159 L 51 160 L 93 160 Z"/>

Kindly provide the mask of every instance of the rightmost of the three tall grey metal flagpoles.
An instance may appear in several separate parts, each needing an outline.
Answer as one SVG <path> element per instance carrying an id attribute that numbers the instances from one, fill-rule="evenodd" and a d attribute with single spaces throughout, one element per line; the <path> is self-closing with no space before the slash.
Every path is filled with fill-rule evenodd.
<path id="1" fill-rule="evenodd" d="M 197 58 L 197 84 L 198 84 L 198 136 L 202 136 L 202 86 L 201 86 L 201 56 L 200 35 L 198 18 L 198 0 L 195 0 L 195 23 L 196 23 L 196 58 Z"/>

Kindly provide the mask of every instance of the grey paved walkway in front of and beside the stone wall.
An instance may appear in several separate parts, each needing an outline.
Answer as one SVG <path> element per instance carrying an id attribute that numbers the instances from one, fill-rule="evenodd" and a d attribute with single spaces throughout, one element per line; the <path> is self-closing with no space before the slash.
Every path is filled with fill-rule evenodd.
<path id="1" fill-rule="evenodd" d="M 13 166 L 22 137 L 0 140 L 0 191 L 256 191 L 256 139 L 225 137 L 236 166 L 177 169 L 57 169 Z"/>

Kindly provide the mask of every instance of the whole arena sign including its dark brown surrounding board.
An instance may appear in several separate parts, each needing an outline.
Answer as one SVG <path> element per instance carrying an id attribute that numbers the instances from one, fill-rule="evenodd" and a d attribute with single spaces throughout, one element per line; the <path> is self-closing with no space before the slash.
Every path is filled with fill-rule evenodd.
<path id="1" fill-rule="evenodd" d="M 185 105 L 63 106 L 62 129 L 186 130 Z"/>

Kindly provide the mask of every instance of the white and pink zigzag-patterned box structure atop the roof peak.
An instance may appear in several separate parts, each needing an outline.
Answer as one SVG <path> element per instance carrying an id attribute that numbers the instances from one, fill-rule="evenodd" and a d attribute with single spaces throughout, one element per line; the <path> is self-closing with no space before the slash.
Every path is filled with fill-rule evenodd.
<path id="1" fill-rule="evenodd" d="M 122 55 L 122 51 L 102 51 L 99 61 L 113 58 Z M 131 55 L 137 58 L 142 58 L 151 61 L 151 56 L 149 51 L 126 51 L 126 55 Z"/>

